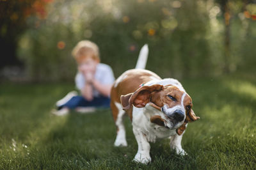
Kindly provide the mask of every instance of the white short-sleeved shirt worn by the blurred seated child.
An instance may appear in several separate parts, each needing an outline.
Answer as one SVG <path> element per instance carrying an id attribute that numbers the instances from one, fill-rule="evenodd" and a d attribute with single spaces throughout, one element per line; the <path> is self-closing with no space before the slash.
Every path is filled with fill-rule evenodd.
<path id="1" fill-rule="evenodd" d="M 113 82 L 115 81 L 115 77 L 111 67 L 103 63 L 99 63 L 97 65 L 94 79 L 104 85 L 112 85 Z M 84 78 L 83 73 L 77 72 L 75 81 L 76 81 L 76 88 L 81 91 L 81 89 L 84 88 L 86 83 L 86 79 Z M 99 91 L 93 88 L 93 97 L 99 97 L 99 95 L 100 95 Z"/>

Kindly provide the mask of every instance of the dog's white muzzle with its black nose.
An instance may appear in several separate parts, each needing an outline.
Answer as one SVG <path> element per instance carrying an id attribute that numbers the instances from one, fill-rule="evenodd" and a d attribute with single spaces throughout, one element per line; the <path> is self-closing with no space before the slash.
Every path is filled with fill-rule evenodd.
<path id="1" fill-rule="evenodd" d="M 168 108 L 164 105 L 161 110 L 166 114 L 166 116 L 168 116 L 168 118 L 170 118 L 170 120 L 182 121 L 185 118 L 185 113 L 180 109 L 173 110 L 173 108 Z"/>

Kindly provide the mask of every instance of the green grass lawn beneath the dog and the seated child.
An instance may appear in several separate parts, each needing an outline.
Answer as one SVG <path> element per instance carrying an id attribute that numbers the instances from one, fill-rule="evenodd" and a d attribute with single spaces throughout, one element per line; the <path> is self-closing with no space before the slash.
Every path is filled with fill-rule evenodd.
<path id="1" fill-rule="evenodd" d="M 110 110 L 54 116 L 72 84 L 0 85 L 0 169 L 255 169 L 256 80 L 223 77 L 182 81 L 200 120 L 182 139 L 188 156 L 168 139 L 151 144 L 152 163 L 132 162 L 137 144 L 125 119 L 128 147 L 115 148 Z"/>

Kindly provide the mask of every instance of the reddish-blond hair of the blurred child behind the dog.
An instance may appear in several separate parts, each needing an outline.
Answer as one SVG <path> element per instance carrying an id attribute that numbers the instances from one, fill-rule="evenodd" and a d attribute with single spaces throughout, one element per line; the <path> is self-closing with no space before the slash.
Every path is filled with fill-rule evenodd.
<path id="1" fill-rule="evenodd" d="M 72 56 L 77 63 L 81 63 L 85 58 L 92 58 L 100 62 L 99 47 L 89 40 L 78 42 L 72 50 Z"/>

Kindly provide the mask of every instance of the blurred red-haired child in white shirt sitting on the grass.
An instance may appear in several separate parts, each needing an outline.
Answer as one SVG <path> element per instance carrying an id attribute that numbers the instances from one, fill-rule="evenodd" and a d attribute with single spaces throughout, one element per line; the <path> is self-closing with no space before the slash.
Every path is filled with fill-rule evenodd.
<path id="1" fill-rule="evenodd" d="M 88 112 L 96 107 L 109 107 L 110 91 L 115 77 L 110 66 L 100 63 L 98 46 L 88 40 L 77 43 L 72 50 L 76 59 L 78 72 L 76 74 L 76 91 L 71 91 L 58 102 L 53 114 L 58 116 L 68 114 L 70 109 Z"/>

